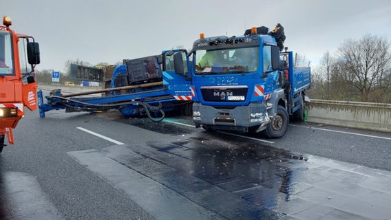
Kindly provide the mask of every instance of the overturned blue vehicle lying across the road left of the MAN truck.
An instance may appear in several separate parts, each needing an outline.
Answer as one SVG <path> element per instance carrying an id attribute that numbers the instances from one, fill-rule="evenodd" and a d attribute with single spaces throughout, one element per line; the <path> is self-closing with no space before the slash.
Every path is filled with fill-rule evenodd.
<path id="1" fill-rule="evenodd" d="M 165 112 L 176 111 L 191 115 L 191 81 L 189 72 L 174 72 L 173 57 L 182 56 L 189 63 L 186 50 L 163 51 L 156 56 L 124 60 L 111 74 L 109 88 L 78 94 L 61 94 L 61 89 L 50 91 L 43 102 L 43 92 L 38 91 L 40 117 L 46 111 L 65 109 L 74 111 L 107 111 L 118 109 L 125 117 L 147 115 L 155 122 L 165 117 Z M 74 65 L 72 78 L 103 82 L 102 68 Z M 103 96 L 88 96 L 103 94 Z"/>

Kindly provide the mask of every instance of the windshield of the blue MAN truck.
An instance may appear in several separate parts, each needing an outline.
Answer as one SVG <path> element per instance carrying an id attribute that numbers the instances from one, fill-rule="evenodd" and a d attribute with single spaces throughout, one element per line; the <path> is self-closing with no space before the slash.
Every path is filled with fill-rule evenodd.
<path id="1" fill-rule="evenodd" d="M 258 67 L 259 47 L 195 52 L 195 74 L 242 74 L 255 72 Z"/>

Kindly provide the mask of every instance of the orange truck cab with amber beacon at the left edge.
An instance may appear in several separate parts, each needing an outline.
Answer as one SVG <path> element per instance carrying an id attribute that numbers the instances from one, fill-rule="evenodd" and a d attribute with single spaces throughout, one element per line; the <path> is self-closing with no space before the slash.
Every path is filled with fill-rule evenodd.
<path id="1" fill-rule="evenodd" d="M 5 137 L 14 144 L 12 129 L 24 116 L 24 107 L 36 110 L 34 67 L 40 63 L 39 44 L 32 36 L 10 29 L 10 17 L 0 25 L 0 153 Z"/>

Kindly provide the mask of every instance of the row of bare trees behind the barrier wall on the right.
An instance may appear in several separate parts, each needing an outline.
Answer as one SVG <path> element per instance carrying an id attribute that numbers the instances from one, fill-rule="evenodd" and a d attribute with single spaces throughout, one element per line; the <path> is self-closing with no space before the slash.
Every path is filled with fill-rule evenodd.
<path id="1" fill-rule="evenodd" d="M 390 40 L 371 34 L 347 39 L 311 74 L 310 98 L 391 103 Z"/>

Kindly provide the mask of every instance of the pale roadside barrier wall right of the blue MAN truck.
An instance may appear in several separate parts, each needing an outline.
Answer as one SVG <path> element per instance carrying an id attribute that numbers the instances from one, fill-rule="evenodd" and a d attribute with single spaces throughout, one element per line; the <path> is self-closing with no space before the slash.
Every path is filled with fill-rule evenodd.
<path id="1" fill-rule="evenodd" d="M 311 100 L 308 122 L 391 132 L 391 104 Z"/>

